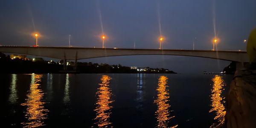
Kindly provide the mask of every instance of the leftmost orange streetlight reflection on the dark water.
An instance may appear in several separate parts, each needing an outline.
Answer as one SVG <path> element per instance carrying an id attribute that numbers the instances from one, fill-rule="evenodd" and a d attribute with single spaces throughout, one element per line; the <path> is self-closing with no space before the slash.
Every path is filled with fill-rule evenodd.
<path id="1" fill-rule="evenodd" d="M 44 109 L 45 102 L 42 102 L 44 93 L 39 88 L 40 81 L 43 75 L 32 74 L 29 94 L 26 102 L 21 104 L 26 106 L 26 122 L 23 122 L 23 128 L 32 128 L 44 126 L 44 119 L 47 119 L 48 110 Z"/>

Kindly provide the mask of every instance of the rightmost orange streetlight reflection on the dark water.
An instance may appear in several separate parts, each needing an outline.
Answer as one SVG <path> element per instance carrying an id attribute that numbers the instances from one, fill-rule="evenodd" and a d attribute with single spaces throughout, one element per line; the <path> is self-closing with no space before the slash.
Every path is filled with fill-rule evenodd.
<path id="1" fill-rule="evenodd" d="M 216 116 L 214 119 L 218 119 L 218 122 L 212 124 L 211 128 L 215 126 L 223 125 L 225 121 L 225 115 L 226 115 L 225 107 L 223 105 L 225 101 L 223 100 L 224 98 L 221 96 L 222 90 L 224 90 L 223 89 L 224 80 L 222 79 L 221 76 L 216 75 L 214 76 L 212 81 L 213 81 L 212 95 L 211 95 L 212 109 L 209 112 L 212 112 L 212 111 L 216 112 Z"/>

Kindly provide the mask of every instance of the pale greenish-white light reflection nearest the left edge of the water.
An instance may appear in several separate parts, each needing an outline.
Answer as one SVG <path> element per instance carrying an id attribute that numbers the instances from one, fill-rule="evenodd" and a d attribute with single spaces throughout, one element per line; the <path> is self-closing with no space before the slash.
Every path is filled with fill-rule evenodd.
<path id="1" fill-rule="evenodd" d="M 16 83 L 17 83 L 17 75 L 12 74 L 12 83 L 10 86 L 10 95 L 9 95 L 9 102 L 11 104 L 14 104 L 17 102 L 17 89 L 16 89 Z"/>

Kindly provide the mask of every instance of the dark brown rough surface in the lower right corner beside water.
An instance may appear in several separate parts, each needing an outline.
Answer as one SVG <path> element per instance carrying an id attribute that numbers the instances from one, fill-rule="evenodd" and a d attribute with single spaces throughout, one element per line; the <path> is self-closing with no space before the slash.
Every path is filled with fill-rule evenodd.
<path id="1" fill-rule="evenodd" d="M 237 70 L 227 99 L 227 128 L 256 128 L 256 74 Z"/>

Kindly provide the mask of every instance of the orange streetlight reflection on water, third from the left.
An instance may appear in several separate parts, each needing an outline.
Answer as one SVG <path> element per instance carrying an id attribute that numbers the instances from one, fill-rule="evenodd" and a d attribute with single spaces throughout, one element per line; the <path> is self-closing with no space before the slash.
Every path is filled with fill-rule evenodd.
<path id="1" fill-rule="evenodd" d="M 154 103 L 157 103 L 157 111 L 155 112 L 155 115 L 157 116 L 157 128 L 169 128 L 168 123 L 169 119 L 172 119 L 175 116 L 170 117 L 170 111 L 169 108 L 171 105 L 169 105 L 169 93 L 167 92 L 168 89 L 166 89 L 167 86 L 167 80 L 168 78 L 166 76 L 160 76 L 158 79 L 158 87 L 157 87 L 157 99 L 154 100 Z M 178 125 L 175 125 L 171 128 L 176 128 Z"/>

